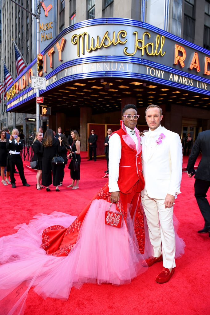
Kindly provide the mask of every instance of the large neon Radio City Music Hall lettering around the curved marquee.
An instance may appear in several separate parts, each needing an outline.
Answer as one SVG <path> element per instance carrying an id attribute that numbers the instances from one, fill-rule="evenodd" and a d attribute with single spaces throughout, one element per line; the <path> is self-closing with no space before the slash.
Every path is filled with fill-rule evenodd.
<path id="1" fill-rule="evenodd" d="M 66 37 L 67 36 L 68 33 L 66 34 Z M 74 49 L 75 55 L 73 55 L 73 53 L 72 55 L 70 54 L 70 58 L 68 60 L 64 60 L 64 62 L 76 59 L 77 57 L 80 58 L 82 55 L 87 56 L 87 54 L 93 53 L 96 50 L 99 51 L 100 49 L 103 49 L 104 55 L 104 52 L 107 49 L 113 46 L 122 46 L 121 55 L 127 57 L 138 56 L 138 58 L 136 58 L 137 61 L 135 61 L 136 63 L 140 63 L 141 59 L 139 58 L 139 55 L 141 57 L 144 57 L 144 60 L 149 60 L 149 57 L 155 56 L 161 58 L 160 64 L 164 65 L 164 58 L 167 53 L 167 48 L 165 48 L 166 37 L 160 34 L 156 34 L 155 36 L 153 35 L 153 39 L 151 38 L 152 35 L 149 31 L 145 31 L 141 34 L 141 36 L 137 31 L 133 31 L 132 36 L 128 37 L 126 30 L 120 30 L 118 32 L 105 31 L 102 36 L 97 35 L 96 38 L 91 37 L 88 32 L 78 34 L 74 33 L 70 38 L 68 38 L 68 41 L 65 37 L 62 37 L 60 42 L 57 41 L 54 46 L 48 49 L 48 51 L 44 54 L 43 72 L 41 73 L 41 75 L 47 72 L 50 73 L 50 69 L 53 69 L 54 65 L 56 65 L 57 67 L 58 63 L 62 63 L 64 59 L 63 53 L 65 51 L 65 48 L 67 47 L 67 51 L 71 52 L 71 45 L 76 46 L 76 51 Z M 187 54 L 190 54 L 190 57 Z M 203 62 L 203 74 L 209 76 L 210 57 L 204 56 L 202 54 L 201 60 L 201 55 L 199 56 L 199 54 L 201 54 L 201 52 L 196 51 L 194 51 L 192 54 L 192 49 L 190 49 L 190 53 L 189 51 L 187 53 L 186 49 L 183 46 L 174 43 L 173 55 L 167 56 L 166 58 L 171 59 L 171 62 L 170 60 L 167 61 L 170 63 L 171 68 L 173 67 L 173 65 L 176 65 L 183 70 L 184 68 L 188 69 L 188 73 L 190 73 L 190 71 L 193 71 L 192 73 L 195 73 L 195 71 L 196 73 L 201 72 L 200 65 L 201 62 Z M 106 55 L 109 56 L 109 50 L 107 51 Z M 19 94 L 22 90 L 26 88 L 26 86 L 29 86 L 29 84 L 31 83 L 31 75 L 33 75 L 32 68 L 29 69 L 27 73 L 25 73 L 17 82 L 14 83 L 13 87 L 7 93 L 7 100 L 12 99 L 15 94 Z"/>

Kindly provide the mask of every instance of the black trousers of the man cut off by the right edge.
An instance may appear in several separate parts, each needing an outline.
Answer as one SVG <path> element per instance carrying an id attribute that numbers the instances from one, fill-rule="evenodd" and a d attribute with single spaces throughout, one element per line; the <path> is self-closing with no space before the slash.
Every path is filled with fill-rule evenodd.
<path id="1" fill-rule="evenodd" d="M 198 207 L 205 221 L 205 227 L 210 226 L 210 205 L 206 198 L 206 193 L 210 187 L 210 181 L 208 180 L 195 180 L 195 197 Z"/>

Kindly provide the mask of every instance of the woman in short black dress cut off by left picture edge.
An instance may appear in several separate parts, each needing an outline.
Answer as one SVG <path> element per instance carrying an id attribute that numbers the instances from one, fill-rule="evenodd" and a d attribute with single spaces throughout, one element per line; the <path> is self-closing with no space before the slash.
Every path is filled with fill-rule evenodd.
<path id="1" fill-rule="evenodd" d="M 6 133 L 4 130 L 0 131 L 0 167 L 1 167 L 1 177 L 2 177 L 2 184 L 7 186 L 11 184 L 9 181 L 9 172 L 6 172 L 6 180 L 4 177 L 4 168 L 7 166 L 7 149 L 6 149 Z"/>

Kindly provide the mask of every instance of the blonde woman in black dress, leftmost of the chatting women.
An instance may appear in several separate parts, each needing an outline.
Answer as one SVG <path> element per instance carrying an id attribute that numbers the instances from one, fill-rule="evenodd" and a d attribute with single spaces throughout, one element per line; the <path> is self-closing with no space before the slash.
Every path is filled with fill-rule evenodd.
<path id="1" fill-rule="evenodd" d="M 42 152 L 41 152 L 41 146 L 42 146 L 42 138 L 43 135 L 41 132 L 37 132 L 36 133 L 36 137 L 34 139 L 34 142 L 32 144 L 32 149 L 33 149 L 33 158 L 32 161 L 37 161 L 37 190 L 41 190 L 41 188 L 44 188 L 41 184 L 40 184 L 40 180 L 42 178 Z"/>

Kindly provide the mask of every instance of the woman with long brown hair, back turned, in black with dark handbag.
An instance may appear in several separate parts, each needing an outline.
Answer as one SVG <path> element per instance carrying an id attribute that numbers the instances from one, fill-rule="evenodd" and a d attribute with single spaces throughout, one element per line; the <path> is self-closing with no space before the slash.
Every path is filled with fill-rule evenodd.
<path id="1" fill-rule="evenodd" d="M 42 158 L 42 185 L 46 186 L 46 191 L 50 192 L 49 186 L 53 183 L 56 186 L 56 192 L 60 192 L 60 165 L 52 164 L 52 158 L 55 154 L 60 155 L 60 141 L 54 138 L 52 129 L 48 129 L 42 141 L 41 152 Z M 55 152 L 56 150 L 56 152 Z M 52 180 L 53 175 L 53 180 Z"/>

